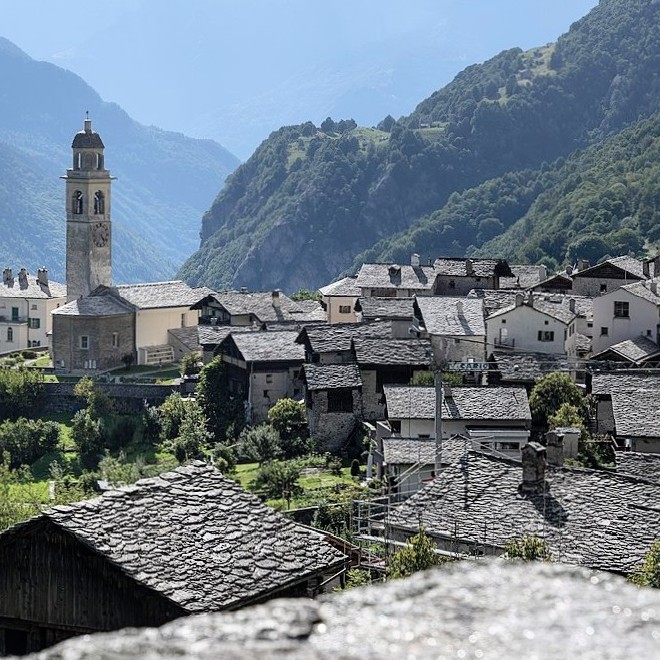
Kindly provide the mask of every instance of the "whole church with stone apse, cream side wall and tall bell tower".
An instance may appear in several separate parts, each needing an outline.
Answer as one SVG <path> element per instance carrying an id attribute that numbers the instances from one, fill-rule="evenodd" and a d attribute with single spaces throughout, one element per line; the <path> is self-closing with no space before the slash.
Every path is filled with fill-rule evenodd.
<path id="1" fill-rule="evenodd" d="M 175 362 L 170 331 L 197 325 L 202 293 L 181 281 L 112 285 L 111 184 L 101 136 L 86 119 L 66 176 L 67 304 L 52 313 L 58 371 Z"/>

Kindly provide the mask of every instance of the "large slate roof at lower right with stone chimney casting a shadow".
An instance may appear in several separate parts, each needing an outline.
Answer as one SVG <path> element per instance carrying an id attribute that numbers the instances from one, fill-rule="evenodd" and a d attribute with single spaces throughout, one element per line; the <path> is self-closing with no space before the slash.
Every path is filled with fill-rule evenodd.
<path id="1" fill-rule="evenodd" d="M 537 534 L 557 561 L 625 572 L 660 537 L 660 484 L 552 467 L 544 492 L 523 495 L 521 482 L 520 462 L 468 452 L 390 511 L 390 524 L 499 548 Z"/>

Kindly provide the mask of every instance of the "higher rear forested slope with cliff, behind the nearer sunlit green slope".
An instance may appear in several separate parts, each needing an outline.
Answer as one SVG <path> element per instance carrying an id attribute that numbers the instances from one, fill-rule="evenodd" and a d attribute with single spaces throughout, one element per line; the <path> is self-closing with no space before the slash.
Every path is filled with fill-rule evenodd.
<path id="1" fill-rule="evenodd" d="M 556 44 L 471 66 L 382 130 L 349 121 L 280 129 L 229 178 L 181 274 L 215 287 L 316 287 L 378 241 L 434 222 L 453 193 L 499 179 L 474 235 L 447 236 L 432 252 L 402 243 L 405 258 L 480 245 L 558 183 L 547 163 L 660 108 L 659 61 L 660 2 L 602 0 Z M 367 254 L 402 251 L 385 243 Z"/>

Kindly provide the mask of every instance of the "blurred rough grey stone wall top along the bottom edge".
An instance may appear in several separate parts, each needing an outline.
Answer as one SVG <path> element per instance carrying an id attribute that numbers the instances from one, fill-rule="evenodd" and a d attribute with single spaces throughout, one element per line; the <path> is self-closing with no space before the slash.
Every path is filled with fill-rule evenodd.
<path id="1" fill-rule="evenodd" d="M 82 637 L 39 660 L 652 658 L 660 591 L 561 564 L 460 562 L 325 599 Z"/>

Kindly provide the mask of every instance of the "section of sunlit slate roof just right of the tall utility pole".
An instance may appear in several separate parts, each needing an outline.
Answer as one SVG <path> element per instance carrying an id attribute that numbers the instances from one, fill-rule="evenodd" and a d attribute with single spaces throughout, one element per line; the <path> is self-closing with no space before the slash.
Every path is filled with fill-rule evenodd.
<path id="1" fill-rule="evenodd" d="M 452 387 L 445 393 L 443 419 L 531 421 L 523 387 Z"/>

